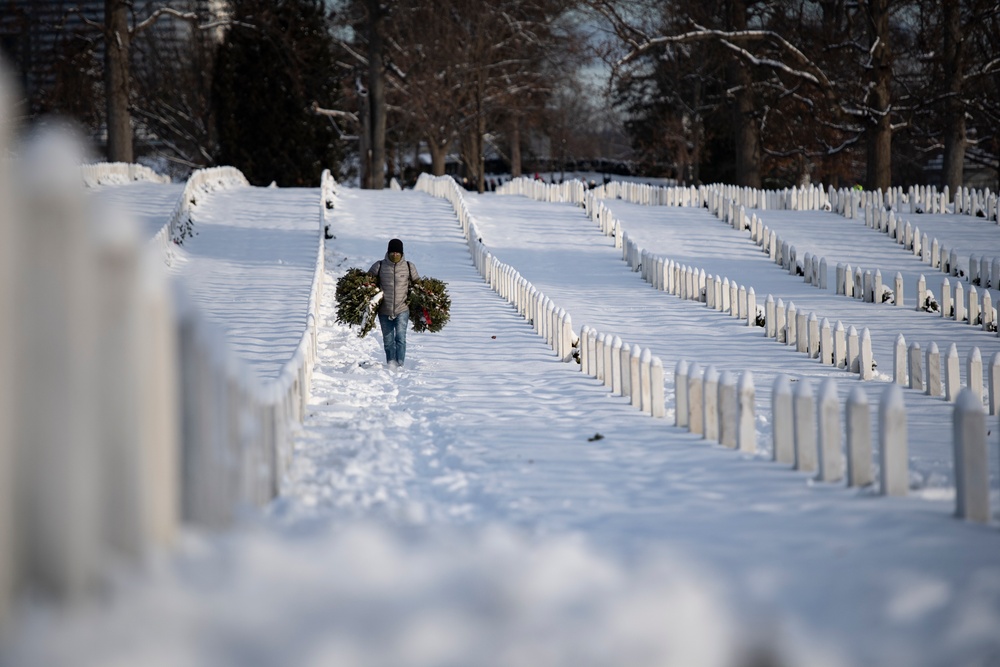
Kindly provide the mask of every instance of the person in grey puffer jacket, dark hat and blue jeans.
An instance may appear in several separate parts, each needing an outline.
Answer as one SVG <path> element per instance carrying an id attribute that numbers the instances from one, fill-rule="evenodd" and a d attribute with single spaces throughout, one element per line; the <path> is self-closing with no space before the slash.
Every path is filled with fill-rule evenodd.
<path id="1" fill-rule="evenodd" d="M 372 264 L 368 273 L 378 280 L 382 290 L 378 322 L 382 327 L 386 365 L 402 368 L 406 358 L 406 329 L 410 324 L 406 295 L 410 285 L 419 280 L 420 275 L 412 262 L 403 260 L 403 242 L 399 239 L 389 241 L 385 259 Z"/>

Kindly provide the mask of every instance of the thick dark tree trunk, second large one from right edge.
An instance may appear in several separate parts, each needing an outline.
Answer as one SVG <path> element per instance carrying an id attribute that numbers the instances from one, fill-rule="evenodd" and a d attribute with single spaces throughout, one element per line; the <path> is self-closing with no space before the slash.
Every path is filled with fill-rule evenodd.
<path id="1" fill-rule="evenodd" d="M 865 187 L 888 190 L 892 185 L 892 51 L 889 47 L 889 0 L 868 2 L 869 44 L 872 45 L 871 90 L 866 129 L 868 165 Z"/>

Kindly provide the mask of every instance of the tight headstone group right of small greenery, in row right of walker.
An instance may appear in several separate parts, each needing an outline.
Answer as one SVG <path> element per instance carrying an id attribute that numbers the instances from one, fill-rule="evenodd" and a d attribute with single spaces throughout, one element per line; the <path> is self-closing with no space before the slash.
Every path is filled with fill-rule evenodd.
<path id="1" fill-rule="evenodd" d="M 580 330 L 580 368 L 613 394 L 651 417 L 663 417 L 663 362 L 649 348 L 629 345 L 584 326 Z"/>

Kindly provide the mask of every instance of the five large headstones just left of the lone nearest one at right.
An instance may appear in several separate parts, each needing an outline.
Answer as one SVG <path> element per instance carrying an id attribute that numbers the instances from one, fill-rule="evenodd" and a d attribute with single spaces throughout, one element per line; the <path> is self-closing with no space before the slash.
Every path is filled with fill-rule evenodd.
<path id="1" fill-rule="evenodd" d="M 779 375 L 771 390 L 772 457 L 793 470 L 815 473 L 822 482 L 863 487 L 874 483 L 871 411 L 862 387 L 855 387 L 844 407 L 841 430 L 837 383 L 825 379 L 817 397 L 812 381 Z M 909 456 L 906 407 L 899 387 L 889 385 L 879 402 L 879 471 L 882 495 L 906 495 Z"/>

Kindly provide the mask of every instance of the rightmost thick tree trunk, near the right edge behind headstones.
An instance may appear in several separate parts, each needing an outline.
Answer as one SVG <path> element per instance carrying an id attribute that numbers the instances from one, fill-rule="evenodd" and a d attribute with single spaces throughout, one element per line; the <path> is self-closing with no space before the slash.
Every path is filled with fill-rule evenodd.
<path id="1" fill-rule="evenodd" d="M 964 181 L 965 109 L 962 84 L 965 77 L 965 44 L 962 40 L 962 10 L 957 2 L 943 2 L 945 98 L 944 164 L 941 180 L 954 193 Z"/>

